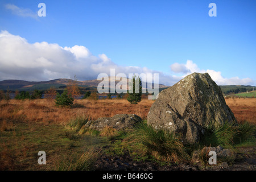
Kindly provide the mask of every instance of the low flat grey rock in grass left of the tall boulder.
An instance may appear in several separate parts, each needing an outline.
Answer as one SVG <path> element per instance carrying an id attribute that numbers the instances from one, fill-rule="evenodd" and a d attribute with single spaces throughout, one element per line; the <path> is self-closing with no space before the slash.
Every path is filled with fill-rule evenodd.
<path id="1" fill-rule="evenodd" d="M 141 117 L 136 114 L 117 114 L 110 118 L 98 118 L 97 120 L 88 121 L 85 124 L 86 129 L 101 131 L 106 126 L 113 127 L 117 130 L 130 129 L 136 123 L 142 122 Z"/>

